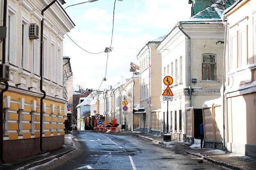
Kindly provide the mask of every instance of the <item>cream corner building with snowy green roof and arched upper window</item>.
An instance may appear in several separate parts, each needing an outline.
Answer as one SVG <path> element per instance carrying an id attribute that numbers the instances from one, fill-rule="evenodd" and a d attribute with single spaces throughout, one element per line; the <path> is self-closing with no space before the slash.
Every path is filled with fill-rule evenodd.
<path id="1" fill-rule="evenodd" d="M 193 108 L 192 138 L 200 138 L 204 101 L 220 97 L 222 86 L 224 26 L 218 7 L 208 7 L 188 20 L 178 22 L 157 46 L 162 56 L 162 79 L 172 77 L 167 87 L 171 101 L 161 96 L 162 132 L 173 139 L 185 140 L 186 109 Z M 168 89 L 169 90 L 169 89 Z M 169 91 L 170 91 L 169 90 Z M 191 138 L 191 136 L 189 136 Z"/>

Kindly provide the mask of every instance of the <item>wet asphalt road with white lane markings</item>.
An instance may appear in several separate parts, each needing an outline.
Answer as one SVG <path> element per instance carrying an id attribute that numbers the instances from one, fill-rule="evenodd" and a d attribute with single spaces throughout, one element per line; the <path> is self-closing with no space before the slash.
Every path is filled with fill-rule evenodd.
<path id="1" fill-rule="evenodd" d="M 132 135 L 75 131 L 76 150 L 36 170 L 220 170 L 177 148 L 161 147 Z M 30 169 L 32 170 L 32 169 Z"/>

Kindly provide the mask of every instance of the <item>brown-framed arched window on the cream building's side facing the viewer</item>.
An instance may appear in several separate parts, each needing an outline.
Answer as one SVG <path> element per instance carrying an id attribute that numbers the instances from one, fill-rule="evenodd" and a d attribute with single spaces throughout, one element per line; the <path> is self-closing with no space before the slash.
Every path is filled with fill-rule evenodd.
<path id="1" fill-rule="evenodd" d="M 202 80 L 216 81 L 216 55 L 204 54 L 202 56 Z"/>

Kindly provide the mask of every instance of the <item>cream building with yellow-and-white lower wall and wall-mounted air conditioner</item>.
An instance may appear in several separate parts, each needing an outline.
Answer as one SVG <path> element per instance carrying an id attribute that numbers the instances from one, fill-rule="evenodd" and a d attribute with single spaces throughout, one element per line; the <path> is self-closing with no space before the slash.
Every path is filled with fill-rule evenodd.
<path id="1" fill-rule="evenodd" d="M 64 144 L 63 40 L 74 23 L 61 7 L 63 0 L 43 2 L 0 1 L 0 25 L 7 30 L 0 42 L 0 160 L 5 163 Z"/>

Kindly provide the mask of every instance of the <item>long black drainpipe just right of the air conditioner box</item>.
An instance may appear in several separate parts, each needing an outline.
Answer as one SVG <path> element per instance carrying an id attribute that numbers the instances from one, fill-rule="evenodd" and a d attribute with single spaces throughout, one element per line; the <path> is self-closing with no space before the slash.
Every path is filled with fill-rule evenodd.
<path id="1" fill-rule="evenodd" d="M 56 0 L 53 0 L 49 5 L 47 5 L 42 11 L 41 14 L 44 15 L 44 11 L 47 10 Z M 46 93 L 43 90 L 43 22 L 44 18 L 41 21 L 41 33 L 40 33 L 40 91 L 43 93 L 43 97 L 40 99 L 40 150 L 43 152 L 43 99 L 46 97 Z"/>

